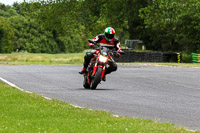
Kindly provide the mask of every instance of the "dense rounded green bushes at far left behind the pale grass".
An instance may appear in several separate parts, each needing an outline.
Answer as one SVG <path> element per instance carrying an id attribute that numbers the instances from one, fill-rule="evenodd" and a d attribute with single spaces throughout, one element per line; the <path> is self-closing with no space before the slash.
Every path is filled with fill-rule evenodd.
<path id="1" fill-rule="evenodd" d="M 0 53 L 27 51 L 30 53 L 81 52 L 80 35 L 43 26 L 32 3 L 0 4 Z"/>

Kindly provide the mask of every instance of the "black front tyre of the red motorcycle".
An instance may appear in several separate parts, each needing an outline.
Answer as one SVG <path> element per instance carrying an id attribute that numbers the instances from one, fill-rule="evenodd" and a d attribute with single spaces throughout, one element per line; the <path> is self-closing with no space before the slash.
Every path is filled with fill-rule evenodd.
<path id="1" fill-rule="evenodd" d="M 94 78 L 92 79 L 91 81 L 91 84 L 90 84 L 90 88 L 92 90 L 96 89 L 97 88 L 97 85 L 101 82 L 101 74 L 102 74 L 102 71 L 103 71 L 103 68 L 101 67 L 98 67 L 97 71 L 96 71 L 96 74 L 94 76 Z"/>

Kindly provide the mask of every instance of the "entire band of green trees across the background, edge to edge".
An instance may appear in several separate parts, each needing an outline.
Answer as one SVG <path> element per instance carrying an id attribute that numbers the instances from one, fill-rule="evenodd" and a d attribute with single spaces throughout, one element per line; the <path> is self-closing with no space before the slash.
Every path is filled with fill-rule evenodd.
<path id="1" fill-rule="evenodd" d="M 155 51 L 200 52 L 199 0 L 37 0 L 0 4 L 0 52 L 80 52 L 108 26 Z"/>

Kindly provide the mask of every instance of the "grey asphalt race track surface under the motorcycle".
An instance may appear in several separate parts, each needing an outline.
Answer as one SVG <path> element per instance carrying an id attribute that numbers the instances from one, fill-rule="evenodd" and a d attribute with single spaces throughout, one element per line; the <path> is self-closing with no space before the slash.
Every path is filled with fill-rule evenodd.
<path id="1" fill-rule="evenodd" d="M 97 90 L 84 89 L 78 65 L 0 66 L 18 87 L 116 115 L 200 130 L 200 68 L 121 65 Z"/>

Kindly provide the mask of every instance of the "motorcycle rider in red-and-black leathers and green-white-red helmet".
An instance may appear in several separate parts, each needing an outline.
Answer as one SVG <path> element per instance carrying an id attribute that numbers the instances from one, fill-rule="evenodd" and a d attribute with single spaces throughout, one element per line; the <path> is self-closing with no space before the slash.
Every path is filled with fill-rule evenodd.
<path id="1" fill-rule="evenodd" d="M 90 48 L 94 48 L 94 44 L 99 43 L 100 46 L 110 47 L 111 49 L 115 48 L 117 51 L 121 51 L 120 42 L 115 37 L 115 30 L 112 27 L 106 28 L 104 33 L 97 35 L 94 39 L 92 39 L 92 41 L 94 43 L 89 42 Z M 86 72 L 90 60 L 94 57 L 94 54 L 98 52 L 98 50 L 95 50 L 85 55 L 83 69 L 79 72 L 80 74 L 84 74 Z M 119 57 L 121 54 L 117 52 L 115 56 Z M 109 67 L 106 69 L 105 75 L 117 70 L 117 64 L 112 58 L 108 64 Z M 103 77 L 103 80 L 105 81 L 105 77 Z"/>

